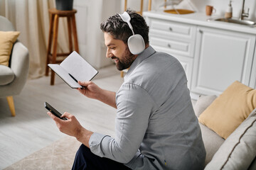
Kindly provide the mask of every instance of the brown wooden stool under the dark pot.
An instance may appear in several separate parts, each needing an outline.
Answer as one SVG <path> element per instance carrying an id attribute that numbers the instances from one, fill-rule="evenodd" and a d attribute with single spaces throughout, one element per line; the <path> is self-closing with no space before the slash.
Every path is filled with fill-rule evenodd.
<path id="1" fill-rule="evenodd" d="M 73 52 L 73 41 L 72 41 L 72 33 L 74 38 L 74 46 L 75 51 L 79 53 L 78 50 L 78 35 L 77 35 L 77 29 L 75 25 L 75 13 L 77 11 L 75 9 L 70 11 L 60 11 L 56 8 L 50 8 L 50 29 L 49 29 L 49 39 L 48 39 L 48 49 L 47 49 L 47 60 L 46 60 L 46 76 L 48 76 L 49 73 L 49 67 L 47 64 L 55 64 L 60 63 L 63 60 L 57 60 L 57 57 L 67 57 L 70 55 L 71 52 Z M 58 40 L 58 21 L 60 17 L 67 17 L 68 19 L 68 45 L 69 45 L 69 52 L 68 53 L 58 53 L 57 54 L 57 40 Z M 51 46 L 53 42 L 53 53 L 51 52 Z M 51 70 L 50 75 L 50 85 L 54 85 L 54 77 L 55 73 L 53 70 Z"/>

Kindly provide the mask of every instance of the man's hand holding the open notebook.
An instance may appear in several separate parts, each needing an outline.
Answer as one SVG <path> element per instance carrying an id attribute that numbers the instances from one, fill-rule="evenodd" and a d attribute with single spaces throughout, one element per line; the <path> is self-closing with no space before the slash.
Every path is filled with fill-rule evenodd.
<path id="1" fill-rule="evenodd" d="M 88 98 L 99 99 L 100 94 L 102 93 L 102 89 L 100 89 L 100 87 L 95 83 L 92 81 L 78 81 L 78 84 L 84 86 L 84 88 L 78 88 L 78 91 L 80 91 L 81 94 L 87 96 Z"/>

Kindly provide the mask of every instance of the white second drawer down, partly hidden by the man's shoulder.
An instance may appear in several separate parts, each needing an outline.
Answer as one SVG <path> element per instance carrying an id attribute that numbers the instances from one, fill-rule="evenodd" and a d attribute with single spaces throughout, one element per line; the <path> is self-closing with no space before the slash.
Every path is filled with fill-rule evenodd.
<path id="1" fill-rule="evenodd" d="M 161 47 L 164 51 L 171 54 L 193 57 L 193 44 L 191 42 L 178 42 L 176 40 L 164 40 L 162 38 L 150 37 L 149 42 L 153 47 Z"/>

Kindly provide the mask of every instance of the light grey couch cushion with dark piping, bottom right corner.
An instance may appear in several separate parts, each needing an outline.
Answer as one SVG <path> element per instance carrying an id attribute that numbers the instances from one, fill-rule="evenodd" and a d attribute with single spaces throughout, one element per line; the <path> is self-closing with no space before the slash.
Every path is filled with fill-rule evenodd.
<path id="1" fill-rule="evenodd" d="M 207 169 L 248 169 L 256 156 L 256 108 L 225 140 Z"/>

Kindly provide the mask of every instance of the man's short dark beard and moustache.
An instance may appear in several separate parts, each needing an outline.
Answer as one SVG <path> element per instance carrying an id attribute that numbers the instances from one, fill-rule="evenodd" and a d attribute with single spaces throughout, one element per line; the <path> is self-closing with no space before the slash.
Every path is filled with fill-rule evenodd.
<path id="1" fill-rule="evenodd" d="M 119 59 L 119 57 L 112 57 L 112 59 L 117 59 L 118 61 L 116 62 L 117 69 L 119 71 L 122 71 L 123 69 L 128 69 L 131 65 L 132 62 L 134 62 L 134 56 L 132 55 L 131 52 L 129 52 L 128 47 L 124 52 L 124 57 L 122 57 L 122 60 Z"/>

